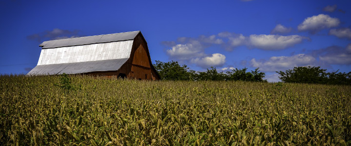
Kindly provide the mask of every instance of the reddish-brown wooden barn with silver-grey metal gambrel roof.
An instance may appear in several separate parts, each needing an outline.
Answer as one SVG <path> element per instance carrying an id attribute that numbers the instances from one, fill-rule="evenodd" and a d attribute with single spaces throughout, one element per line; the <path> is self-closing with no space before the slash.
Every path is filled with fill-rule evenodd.
<path id="1" fill-rule="evenodd" d="M 27 75 L 91 74 L 160 79 L 140 31 L 44 41 Z"/>

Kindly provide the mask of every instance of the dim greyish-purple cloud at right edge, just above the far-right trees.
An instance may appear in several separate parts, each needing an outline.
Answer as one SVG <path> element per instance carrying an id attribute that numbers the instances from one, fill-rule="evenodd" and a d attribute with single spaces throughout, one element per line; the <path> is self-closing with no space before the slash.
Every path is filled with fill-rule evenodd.
<path id="1" fill-rule="evenodd" d="M 312 52 L 313 55 L 319 56 L 319 60 L 328 64 L 351 64 L 351 44 L 348 46 L 330 46 L 324 49 Z"/>

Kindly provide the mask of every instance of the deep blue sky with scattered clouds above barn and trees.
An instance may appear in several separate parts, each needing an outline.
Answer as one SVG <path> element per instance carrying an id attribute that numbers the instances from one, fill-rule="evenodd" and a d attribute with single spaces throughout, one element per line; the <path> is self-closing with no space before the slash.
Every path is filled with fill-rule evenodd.
<path id="1" fill-rule="evenodd" d="M 195 71 L 351 71 L 350 0 L 0 0 L 0 73 L 28 73 L 42 41 L 140 30 L 153 63 Z"/>

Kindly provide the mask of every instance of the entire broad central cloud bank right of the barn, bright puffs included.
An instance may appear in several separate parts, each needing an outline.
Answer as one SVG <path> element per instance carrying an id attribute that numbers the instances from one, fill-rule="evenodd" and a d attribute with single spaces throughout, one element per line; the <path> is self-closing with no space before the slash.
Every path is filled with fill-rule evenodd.
<path id="1" fill-rule="evenodd" d="M 221 32 L 217 35 L 192 37 L 179 37 L 176 41 L 164 41 L 167 46 L 166 54 L 173 60 L 193 63 L 197 66 L 208 68 L 219 67 L 225 64 L 225 55 L 205 53 L 205 49 L 211 46 L 224 48 L 232 51 L 238 46 L 248 46 L 263 50 L 282 50 L 301 43 L 307 37 L 298 35 L 250 35 L 246 37 L 242 34 Z"/>

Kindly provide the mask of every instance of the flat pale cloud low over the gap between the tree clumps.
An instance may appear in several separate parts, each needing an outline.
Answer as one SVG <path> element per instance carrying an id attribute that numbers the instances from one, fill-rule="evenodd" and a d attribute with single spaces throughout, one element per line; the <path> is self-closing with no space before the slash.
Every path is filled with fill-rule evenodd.
<path id="1" fill-rule="evenodd" d="M 250 65 L 263 72 L 275 72 L 292 69 L 297 66 L 313 66 L 315 58 L 311 55 L 273 56 L 269 60 L 251 59 Z"/>

